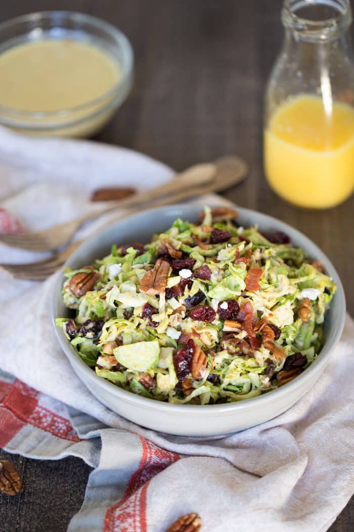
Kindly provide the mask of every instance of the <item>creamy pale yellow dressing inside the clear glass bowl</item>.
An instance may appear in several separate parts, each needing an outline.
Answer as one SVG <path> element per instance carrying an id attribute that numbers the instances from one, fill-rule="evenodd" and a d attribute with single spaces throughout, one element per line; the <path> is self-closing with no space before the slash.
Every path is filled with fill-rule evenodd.
<path id="1" fill-rule="evenodd" d="M 119 81 L 119 65 L 97 46 L 40 40 L 0 54 L 0 105 L 59 111 L 101 96 Z"/>

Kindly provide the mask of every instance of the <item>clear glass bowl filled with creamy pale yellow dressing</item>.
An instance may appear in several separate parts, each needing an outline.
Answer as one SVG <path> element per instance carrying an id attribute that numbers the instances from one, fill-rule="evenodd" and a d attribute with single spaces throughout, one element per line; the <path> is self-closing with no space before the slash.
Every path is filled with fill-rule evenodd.
<path id="1" fill-rule="evenodd" d="M 0 24 L 0 124 L 27 135 L 89 137 L 127 97 L 134 54 L 117 28 L 69 11 Z"/>

